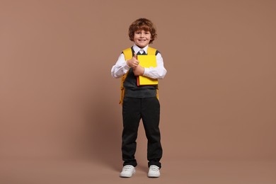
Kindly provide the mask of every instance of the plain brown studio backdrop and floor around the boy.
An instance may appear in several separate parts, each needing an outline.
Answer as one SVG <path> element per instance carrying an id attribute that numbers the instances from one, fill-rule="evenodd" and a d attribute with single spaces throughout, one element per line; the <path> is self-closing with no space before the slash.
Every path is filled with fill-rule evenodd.
<path id="1" fill-rule="evenodd" d="M 125 183 L 120 80 L 110 69 L 151 19 L 162 176 L 133 182 L 275 183 L 275 1 L 1 1 L 0 183 Z M 130 181 L 128 180 L 128 181 Z M 3 182 L 2 182 L 3 181 Z"/>

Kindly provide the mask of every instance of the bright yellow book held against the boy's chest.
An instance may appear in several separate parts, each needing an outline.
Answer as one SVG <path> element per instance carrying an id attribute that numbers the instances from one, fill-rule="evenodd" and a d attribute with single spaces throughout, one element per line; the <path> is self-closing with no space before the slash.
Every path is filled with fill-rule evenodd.
<path id="1" fill-rule="evenodd" d="M 155 55 L 137 55 L 139 65 L 144 68 L 157 67 Z M 157 85 L 158 79 L 151 79 L 147 76 L 137 76 L 137 86 Z"/>

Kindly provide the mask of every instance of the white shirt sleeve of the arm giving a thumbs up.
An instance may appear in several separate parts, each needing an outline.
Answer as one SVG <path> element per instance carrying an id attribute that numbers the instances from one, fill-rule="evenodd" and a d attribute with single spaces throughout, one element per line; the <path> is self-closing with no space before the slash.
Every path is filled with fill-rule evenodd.
<path id="1" fill-rule="evenodd" d="M 129 69 L 130 67 L 127 66 L 127 62 L 125 62 L 125 55 L 120 54 L 116 64 L 111 69 L 111 76 L 119 78 L 123 74 L 126 74 Z"/>

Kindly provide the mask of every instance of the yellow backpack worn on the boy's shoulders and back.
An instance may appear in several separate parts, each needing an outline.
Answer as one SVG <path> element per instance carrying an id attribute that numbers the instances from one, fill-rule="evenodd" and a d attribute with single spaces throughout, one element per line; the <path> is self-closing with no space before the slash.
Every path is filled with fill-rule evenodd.
<path id="1" fill-rule="evenodd" d="M 125 55 L 125 61 L 132 59 L 132 48 L 127 48 L 127 49 L 123 50 L 122 53 L 124 53 L 124 55 Z M 155 53 L 156 53 L 156 49 L 154 49 L 152 47 L 148 47 L 148 55 L 155 55 Z M 125 97 L 124 82 L 125 82 L 125 79 L 127 78 L 128 72 L 129 71 L 127 71 L 127 73 L 124 74 L 121 79 L 121 98 L 120 98 L 120 103 L 119 103 L 121 105 L 122 105 L 122 101 L 124 100 L 124 97 Z M 156 89 L 156 97 L 159 98 L 158 88 Z"/>

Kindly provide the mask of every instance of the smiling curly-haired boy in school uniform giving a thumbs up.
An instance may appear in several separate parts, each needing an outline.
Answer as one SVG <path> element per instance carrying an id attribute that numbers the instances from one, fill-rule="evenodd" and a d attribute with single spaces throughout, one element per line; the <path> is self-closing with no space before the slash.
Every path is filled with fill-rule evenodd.
<path id="1" fill-rule="evenodd" d="M 126 58 L 127 50 L 120 54 L 116 64 L 111 69 L 115 78 L 122 76 L 122 159 L 124 161 L 121 177 L 130 178 L 135 173 L 137 161 L 136 151 L 137 131 L 142 118 L 146 138 L 148 139 L 147 159 L 149 161 L 148 177 L 160 176 L 162 147 L 160 142 L 159 117 L 160 104 L 158 100 L 158 86 L 137 86 L 137 76 L 147 76 L 151 79 L 163 79 L 166 69 L 159 51 L 149 47 L 156 38 L 156 30 L 151 21 L 139 18 L 129 28 L 129 37 L 134 42 L 131 47 L 130 58 Z M 153 52 L 154 50 L 154 52 Z M 132 53 L 131 53 L 132 52 Z M 157 67 L 144 68 L 139 65 L 137 54 L 156 55 Z M 132 56 L 132 57 L 131 57 Z"/>

